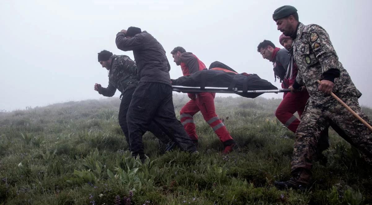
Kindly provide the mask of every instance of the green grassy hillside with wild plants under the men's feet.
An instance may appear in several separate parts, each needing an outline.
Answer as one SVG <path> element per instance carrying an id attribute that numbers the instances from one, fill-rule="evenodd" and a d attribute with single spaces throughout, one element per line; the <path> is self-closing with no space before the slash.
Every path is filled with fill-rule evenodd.
<path id="1" fill-rule="evenodd" d="M 186 95 L 174 95 L 177 117 Z M 278 190 L 290 178 L 294 134 L 274 112 L 280 100 L 216 98 L 240 152 L 196 114 L 198 156 L 161 155 L 144 136 L 145 164 L 130 157 L 117 98 L 0 112 L 2 204 L 371 204 L 371 166 L 333 130 L 326 165 L 314 163 L 312 187 Z M 363 108 L 372 115 L 370 108 Z"/>

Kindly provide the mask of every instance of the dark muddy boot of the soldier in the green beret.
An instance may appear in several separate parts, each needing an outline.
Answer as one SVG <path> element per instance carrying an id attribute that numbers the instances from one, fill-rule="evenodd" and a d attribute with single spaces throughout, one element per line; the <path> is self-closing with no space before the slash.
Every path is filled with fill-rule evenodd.
<path id="1" fill-rule="evenodd" d="M 288 181 L 279 182 L 275 181 L 274 185 L 278 189 L 298 189 L 298 190 L 306 190 L 310 184 L 311 174 L 310 170 L 299 170 L 296 172 L 292 172 L 292 177 Z"/>

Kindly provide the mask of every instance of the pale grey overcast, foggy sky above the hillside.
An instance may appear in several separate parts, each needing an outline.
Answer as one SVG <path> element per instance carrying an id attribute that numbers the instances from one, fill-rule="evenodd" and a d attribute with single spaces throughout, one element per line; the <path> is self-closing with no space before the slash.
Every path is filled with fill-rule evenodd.
<path id="1" fill-rule="evenodd" d="M 171 78 L 182 76 L 170 54 L 182 46 L 207 67 L 218 60 L 280 87 L 257 45 L 266 39 L 281 47 L 272 13 L 286 4 L 297 8 L 302 23 L 328 32 L 363 93 L 360 104 L 372 107 L 370 0 L 1 0 L 0 110 L 101 98 L 93 86 L 107 86 L 108 76 L 97 53 L 106 49 L 133 59 L 132 51 L 115 45 L 116 33 L 129 26 L 148 31 L 163 45 Z M 115 97 L 119 95 L 117 91 Z"/>

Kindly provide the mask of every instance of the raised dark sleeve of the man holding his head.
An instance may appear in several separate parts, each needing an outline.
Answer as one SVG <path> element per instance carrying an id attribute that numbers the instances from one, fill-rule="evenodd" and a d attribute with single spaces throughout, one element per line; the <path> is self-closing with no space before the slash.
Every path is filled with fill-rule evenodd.
<path id="1" fill-rule="evenodd" d="M 125 34 L 123 32 L 119 32 L 116 34 L 116 47 L 118 47 L 122 51 L 131 51 L 136 48 L 141 48 L 143 45 L 143 34 L 137 34 L 132 38 L 125 38 Z"/>

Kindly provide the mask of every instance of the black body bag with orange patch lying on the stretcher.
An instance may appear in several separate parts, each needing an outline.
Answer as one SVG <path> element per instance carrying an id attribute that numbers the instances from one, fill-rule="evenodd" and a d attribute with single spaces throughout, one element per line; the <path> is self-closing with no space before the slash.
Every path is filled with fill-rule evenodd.
<path id="1" fill-rule="evenodd" d="M 245 93 L 247 91 L 278 89 L 256 74 L 237 73 L 218 61 L 212 63 L 209 70 L 199 70 L 191 75 L 172 80 L 172 85 L 200 87 L 201 89 L 205 87 L 227 87 L 231 91 L 237 88 L 238 91 L 243 92 L 236 94 L 246 98 L 255 98 L 262 94 Z"/>

